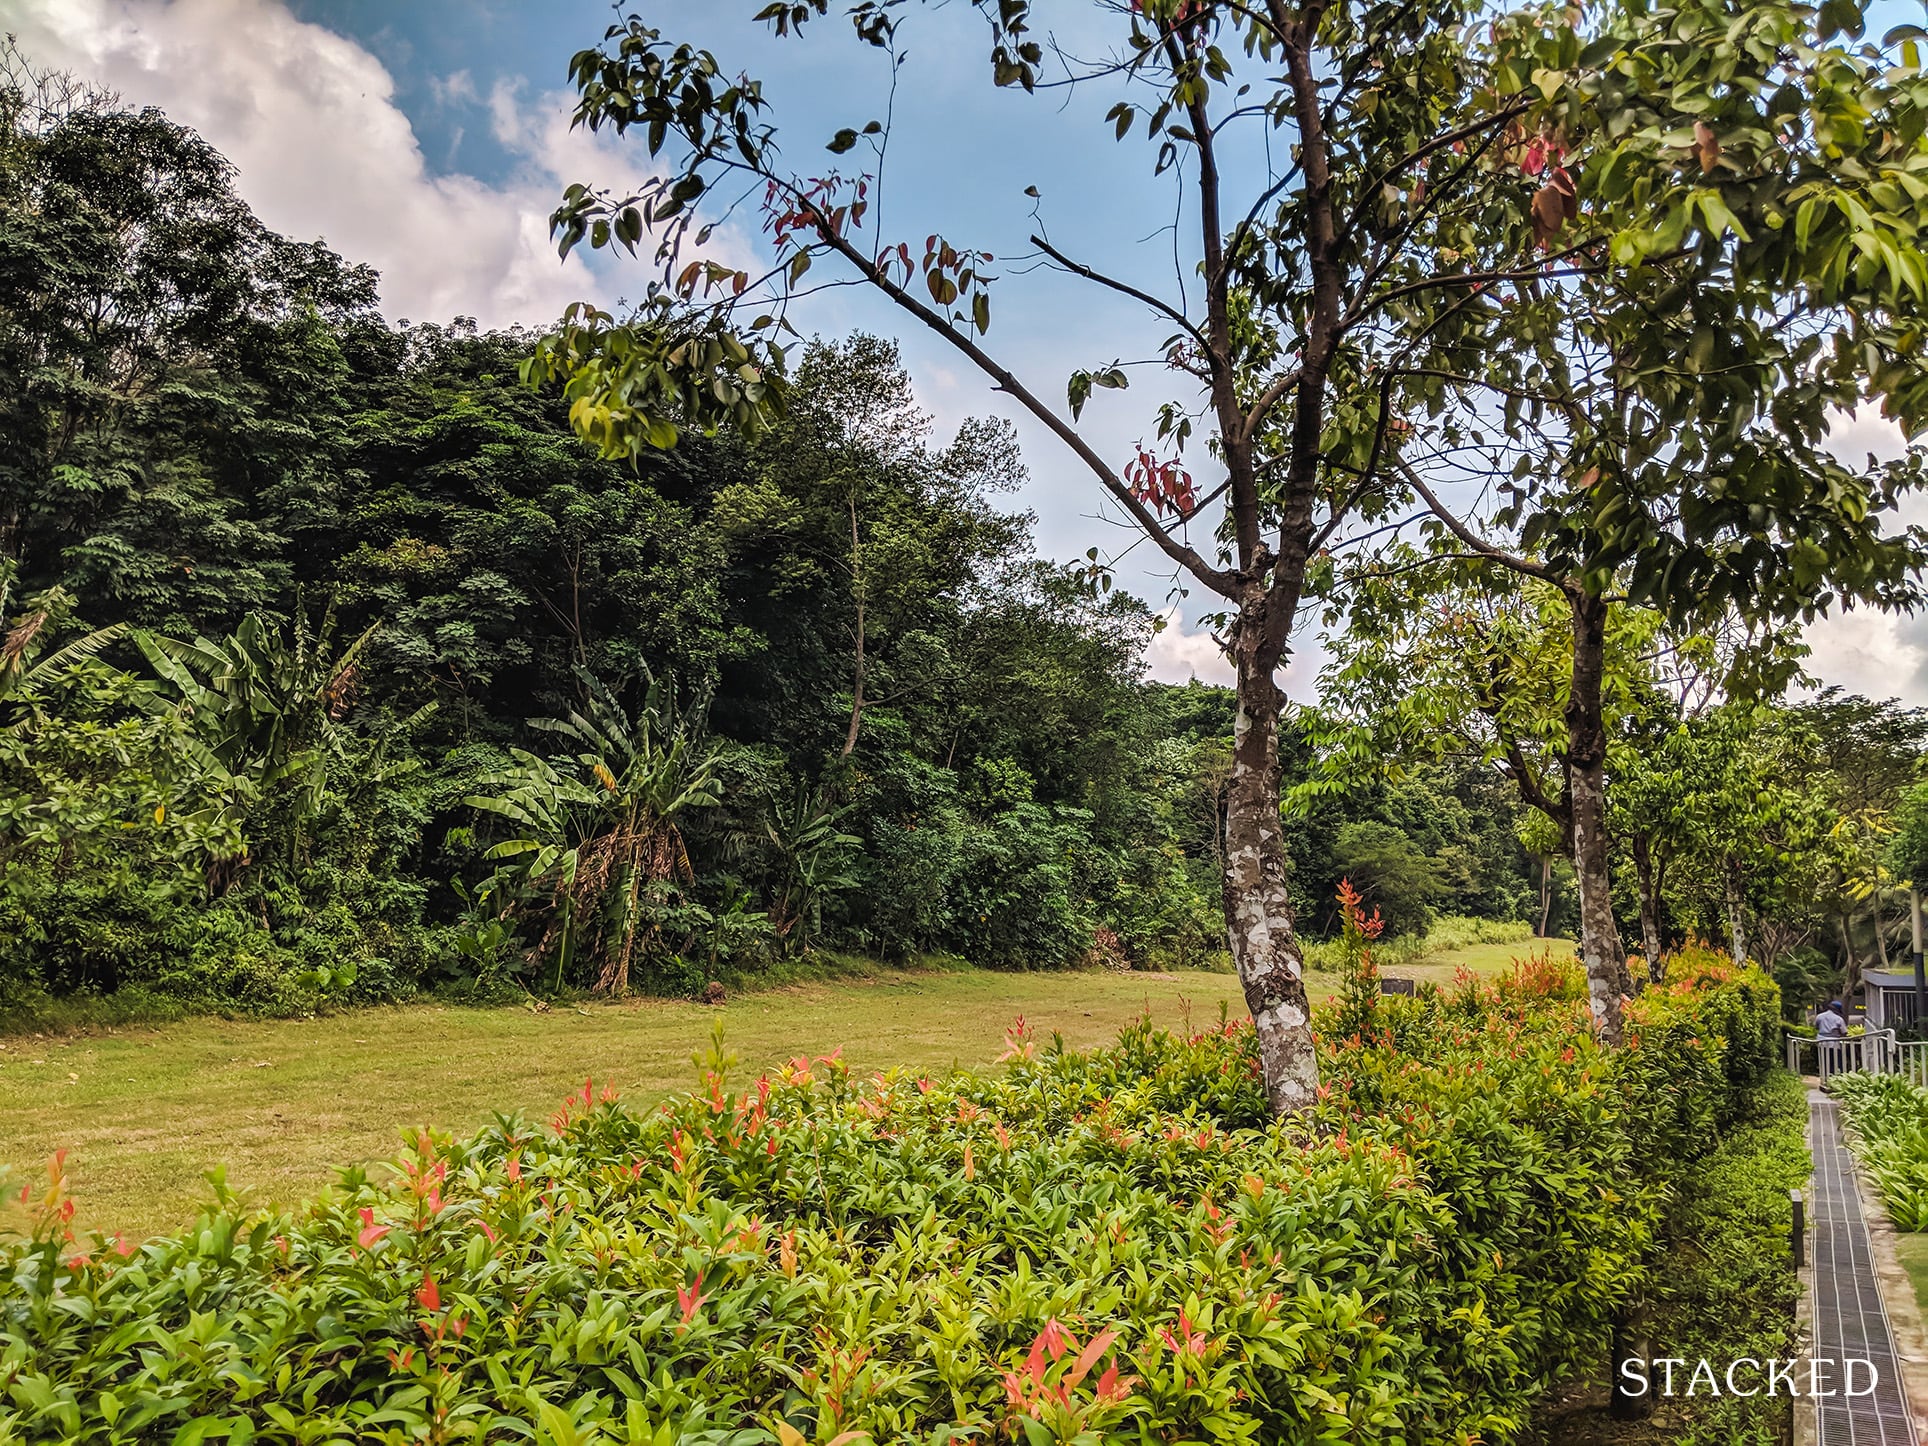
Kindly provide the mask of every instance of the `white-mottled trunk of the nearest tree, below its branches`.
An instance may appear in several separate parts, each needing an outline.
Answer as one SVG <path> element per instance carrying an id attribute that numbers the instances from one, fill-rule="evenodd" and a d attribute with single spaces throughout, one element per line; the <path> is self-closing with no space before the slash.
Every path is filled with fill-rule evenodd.
<path id="1" fill-rule="evenodd" d="M 1232 636 L 1238 723 L 1224 804 L 1224 920 L 1259 1037 L 1265 1093 L 1292 1114 L 1319 1093 L 1305 962 L 1286 893 L 1286 837 L 1278 821 L 1278 657 L 1265 638 L 1265 602 L 1240 607 Z"/>

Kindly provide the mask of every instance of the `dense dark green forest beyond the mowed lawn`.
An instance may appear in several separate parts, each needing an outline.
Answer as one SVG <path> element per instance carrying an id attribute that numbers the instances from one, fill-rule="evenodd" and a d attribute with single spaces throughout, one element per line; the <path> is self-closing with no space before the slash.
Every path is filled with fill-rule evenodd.
<path id="1" fill-rule="evenodd" d="M 756 436 L 602 461 L 534 334 L 391 326 L 166 116 L 0 96 L 0 1004 L 1222 958 L 1234 700 L 1147 683 L 1153 613 L 1035 553 L 1008 424 L 935 436 L 856 335 Z M 1519 760 L 1454 725 L 1500 711 L 1332 619 L 1284 721 L 1303 925 L 1352 877 L 1394 933 L 1571 927 Z M 1627 937 L 1741 929 L 1801 997 L 1899 947 L 1922 721 L 1670 692 L 1666 652 L 1616 710 Z"/>

